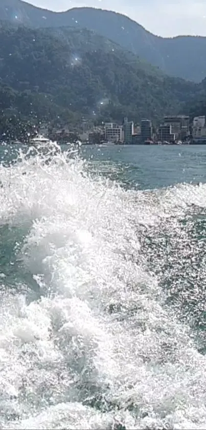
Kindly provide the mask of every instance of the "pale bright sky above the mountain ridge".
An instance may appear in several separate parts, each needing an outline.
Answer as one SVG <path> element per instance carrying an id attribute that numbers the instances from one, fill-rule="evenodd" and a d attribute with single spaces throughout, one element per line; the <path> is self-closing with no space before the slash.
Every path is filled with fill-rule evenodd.
<path id="1" fill-rule="evenodd" d="M 91 6 L 114 10 L 163 37 L 206 36 L 206 0 L 25 0 L 57 12 Z"/>

